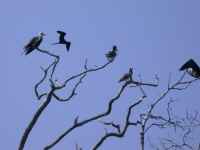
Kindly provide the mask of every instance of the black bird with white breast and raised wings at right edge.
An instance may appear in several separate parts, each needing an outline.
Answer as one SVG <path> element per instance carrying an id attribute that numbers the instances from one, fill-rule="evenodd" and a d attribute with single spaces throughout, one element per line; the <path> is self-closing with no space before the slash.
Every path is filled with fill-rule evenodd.
<path id="1" fill-rule="evenodd" d="M 188 60 L 185 64 L 181 66 L 179 70 L 186 70 L 186 72 L 191 76 L 195 78 L 200 78 L 200 68 L 193 59 Z"/>

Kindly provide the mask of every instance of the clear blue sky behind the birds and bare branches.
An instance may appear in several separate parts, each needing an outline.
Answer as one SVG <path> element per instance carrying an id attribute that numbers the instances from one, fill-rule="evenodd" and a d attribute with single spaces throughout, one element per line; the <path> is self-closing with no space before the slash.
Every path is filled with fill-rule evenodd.
<path id="1" fill-rule="evenodd" d="M 88 76 L 73 101 L 55 101 L 49 106 L 33 129 L 27 150 L 44 147 L 70 126 L 76 115 L 84 119 L 104 111 L 108 99 L 120 87 L 117 80 L 130 66 L 134 75 L 141 74 L 145 81 L 152 81 L 158 74 L 163 88 L 169 73 L 180 76 L 178 68 L 189 58 L 200 64 L 199 6 L 198 0 L 1 1 L 0 149 L 17 149 L 27 123 L 40 105 L 33 85 L 42 75 L 40 66 L 47 65 L 50 59 L 37 52 L 22 55 L 23 46 L 32 36 L 45 32 L 41 48 L 63 56 L 57 70 L 60 80 L 78 73 L 85 58 L 90 66 L 105 63 L 104 54 L 114 44 L 119 47 L 119 56 L 105 71 Z M 72 41 L 70 53 L 62 46 L 50 45 L 57 40 L 58 29 L 66 31 Z M 199 88 L 196 83 L 176 97 L 182 100 L 180 111 L 199 108 Z M 160 91 L 147 89 L 153 95 Z M 130 95 L 121 100 L 128 98 Z M 115 120 L 121 120 L 123 109 L 120 105 L 114 110 Z M 76 142 L 89 149 L 101 135 L 95 131 L 104 132 L 100 124 L 83 129 L 70 134 L 54 149 L 73 149 Z M 135 132 L 130 129 L 125 138 L 111 139 L 101 149 L 137 149 Z"/>

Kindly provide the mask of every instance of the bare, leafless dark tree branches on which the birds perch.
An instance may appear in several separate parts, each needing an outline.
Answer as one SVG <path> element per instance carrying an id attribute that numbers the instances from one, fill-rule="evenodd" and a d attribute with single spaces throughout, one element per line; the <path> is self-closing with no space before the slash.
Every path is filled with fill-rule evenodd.
<path id="1" fill-rule="evenodd" d="M 25 129 L 19 144 L 18 148 L 19 150 L 24 149 L 32 129 L 36 125 L 38 119 L 41 117 L 44 110 L 53 100 L 65 103 L 72 101 L 74 96 L 77 95 L 77 89 L 81 86 L 81 83 L 83 83 L 84 79 L 90 74 L 94 72 L 99 73 L 101 70 L 104 70 L 108 66 L 112 65 L 112 63 L 115 60 L 115 57 L 117 56 L 116 54 L 113 55 L 113 58 L 108 58 L 105 64 L 97 67 L 89 67 L 88 60 L 86 59 L 83 65 L 83 71 L 80 71 L 78 74 L 66 78 L 64 81 L 58 81 L 57 79 L 54 78 L 54 76 L 56 75 L 56 69 L 60 62 L 60 56 L 40 48 L 37 48 L 36 50 L 39 51 L 40 53 L 46 54 L 48 57 L 52 57 L 54 60 L 47 67 L 45 68 L 41 67 L 41 70 L 43 71 L 43 76 L 34 85 L 34 92 L 38 100 L 41 99 L 45 100 L 43 104 L 35 112 L 33 118 L 31 119 L 30 123 Z M 112 51 L 109 51 L 108 54 L 106 54 L 103 57 L 112 56 L 111 55 Z M 110 72 L 112 72 L 112 70 Z M 130 74 L 130 71 L 124 76 L 127 76 L 127 78 L 123 80 L 124 82 L 122 83 L 119 91 L 116 92 L 115 96 L 109 99 L 107 107 L 103 112 L 95 114 L 94 116 L 91 116 L 86 119 L 82 118 L 80 119 L 80 116 L 78 115 L 76 118 L 74 118 L 74 122 L 72 123 L 71 127 L 67 128 L 63 133 L 58 135 L 58 137 L 55 137 L 55 139 L 52 139 L 52 142 L 49 143 L 49 145 L 44 146 L 44 150 L 49 150 L 54 148 L 57 144 L 59 144 L 61 140 L 63 140 L 71 132 L 92 122 L 99 122 L 105 126 L 105 131 L 102 131 L 105 133 L 103 134 L 102 137 L 99 138 L 99 140 L 96 141 L 96 143 L 94 143 L 94 145 L 92 146 L 93 150 L 100 148 L 105 141 L 111 140 L 112 137 L 123 138 L 128 132 L 128 129 L 130 127 L 137 128 L 140 133 L 139 137 L 140 137 L 141 150 L 145 150 L 145 144 L 147 143 L 146 139 L 147 134 L 151 130 L 155 130 L 155 128 L 156 130 L 158 128 L 159 129 L 166 128 L 168 131 L 170 128 L 173 128 L 175 131 L 177 129 L 182 129 L 182 131 L 184 132 L 182 137 L 182 144 L 177 144 L 174 140 L 167 139 L 165 137 L 164 139 L 161 140 L 162 142 L 160 147 L 154 146 L 156 147 L 156 149 L 165 149 L 165 150 L 178 149 L 178 148 L 183 149 L 183 147 L 186 147 L 188 149 L 193 149 L 193 146 L 186 143 L 186 139 L 189 136 L 189 134 L 192 133 L 191 131 L 194 127 L 194 122 L 198 122 L 198 124 L 195 124 L 195 127 L 199 127 L 200 124 L 197 117 L 198 115 L 196 114 L 194 117 L 191 116 L 186 117 L 186 120 L 190 122 L 190 124 L 187 125 L 186 120 L 179 119 L 176 116 L 174 116 L 174 113 L 176 112 L 172 110 L 172 104 L 174 104 L 174 100 L 168 99 L 168 95 L 171 92 L 179 92 L 179 91 L 183 92 L 198 79 L 185 80 L 186 74 L 184 73 L 183 75 L 180 76 L 180 78 L 177 81 L 171 83 L 170 79 L 171 77 L 170 77 L 167 88 L 163 92 L 161 92 L 160 96 L 158 96 L 157 98 L 153 97 L 151 98 L 148 96 L 145 88 L 146 87 L 151 87 L 153 89 L 159 88 L 160 79 L 157 76 L 155 76 L 154 82 L 144 82 L 141 78 L 137 80 L 135 74 L 133 73 L 132 77 L 132 73 Z M 46 84 L 45 81 L 48 81 L 50 84 Z M 69 96 L 63 97 L 62 95 L 59 95 L 58 92 L 65 90 L 66 86 L 72 81 L 75 81 L 75 83 L 72 85 L 72 90 Z M 45 86 L 49 87 L 48 91 L 42 92 L 40 86 L 43 84 L 46 84 Z M 139 96 L 135 97 L 132 103 L 129 105 L 126 115 L 124 116 L 123 124 L 115 123 L 113 120 L 104 121 L 104 118 L 112 113 L 114 104 L 117 101 L 120 101 L 122 95 L 127 90 L 129 89 L 135 90 L 136 88 L 139 89 L 138 91 Z M 148 102 L 146 99 L 151 99 L 151 101 Z M 165 114 L 161 114 L 155 111 L 157 108 L 161 107 L 160 104 L 164 104 L 166 110 Z M 143 110 L 142 112 L 139 111 L 140 108 Z M 108 128 L 113 128 L 113 131 L 108 131 Z M 75 149 L 78 150 L 84 148 L 81 148 L 81 146 L 76 144 Z M 198 147 L 198 150 L 199 149 L 200 148 Z"/>

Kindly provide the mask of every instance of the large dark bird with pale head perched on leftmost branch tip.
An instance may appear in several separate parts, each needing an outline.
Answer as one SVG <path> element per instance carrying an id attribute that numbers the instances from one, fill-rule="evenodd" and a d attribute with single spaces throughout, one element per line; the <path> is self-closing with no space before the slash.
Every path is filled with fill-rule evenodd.
<path id="1" fill-rule="evenodd" d="M 25 55 L 30 54 L 33 50 L 37 49 L 45 36 L 43 32 L 39 32 L 38 36 L 33 37 L 27 45 L 24 46 Z"/>

